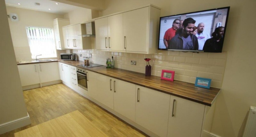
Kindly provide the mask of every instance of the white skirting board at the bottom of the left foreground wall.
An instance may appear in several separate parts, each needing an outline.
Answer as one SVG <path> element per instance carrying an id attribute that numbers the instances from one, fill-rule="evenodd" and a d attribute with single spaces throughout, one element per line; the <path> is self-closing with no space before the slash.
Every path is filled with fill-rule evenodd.
<path id="1" fill-rule="evenodd" d="M 27 113 L 28 114 L 28 113 Z M 4 123 L 0 125 L 0 134 L 12 131 L 14 129 L 27 126 L 31 124 L 30 117 L 27 115 L 26 117 L 15 119 L 10 122 Z"/>

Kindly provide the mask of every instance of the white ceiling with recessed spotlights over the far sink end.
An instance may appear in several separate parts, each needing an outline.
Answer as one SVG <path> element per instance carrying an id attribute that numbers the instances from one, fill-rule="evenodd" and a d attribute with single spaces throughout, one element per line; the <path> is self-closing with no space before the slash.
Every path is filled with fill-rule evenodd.
<path id="1" fill-rule="evenodd" d="M 20 5 L 18 5 L 18 3 L 20 3 Z M 35 3 L 40 3 L 40 6 L 35 5 Z M 5 0 L 5 4 L 6 6 L 12 6 L 35 11 L 43 11 L 54 14 L 65 14 L 70 11 L 74 11 L 75 9 L 82 8 L 74 5 L 55 2 L 52 0 Z"/>

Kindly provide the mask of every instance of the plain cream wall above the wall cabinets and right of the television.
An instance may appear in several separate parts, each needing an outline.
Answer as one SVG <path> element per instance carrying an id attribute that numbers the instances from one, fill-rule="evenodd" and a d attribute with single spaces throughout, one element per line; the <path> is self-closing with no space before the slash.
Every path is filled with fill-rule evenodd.
<path id="1" fill-rule="evenodd" d="M 221 137 L 242 136 L 249 107 L 256 106 L 254 41 L 256 29 L 253 26 L 256 22 L 253 16 L 256 13 L 256 1 L 106 0 L 106 10 L 101 11 L 100 15 L 125 11 L 146 4 L 160 7 L 161 16 L 230 6 L 223 47 L 227 52 L 227 62 L 211 132 Z"/>

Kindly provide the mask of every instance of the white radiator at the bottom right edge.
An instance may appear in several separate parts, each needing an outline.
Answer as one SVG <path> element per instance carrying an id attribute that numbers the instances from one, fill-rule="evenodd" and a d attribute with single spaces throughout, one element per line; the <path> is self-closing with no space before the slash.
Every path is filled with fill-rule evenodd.
<path id="1" fill-rule="evenodd" d="M 256 107 L 251 106 L 243 137 L 256 137 Z"/>

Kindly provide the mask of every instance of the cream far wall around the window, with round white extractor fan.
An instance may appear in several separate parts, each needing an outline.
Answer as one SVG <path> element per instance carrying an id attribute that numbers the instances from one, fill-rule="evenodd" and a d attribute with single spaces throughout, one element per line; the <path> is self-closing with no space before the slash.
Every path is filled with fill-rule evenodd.
<path id="1" fill-rule="evenodd" d="M 8 15 L 10 15 L 10 13 L 17 13 L 19 17 L 18 22 L 13 22 L 11 21 L 10 18 L 8 19 L 17 61 L 32 60 L 28 44 L 26 26 L 53 28 L 53 19 L 64 18 L 63 15 L 51 14 L 41 11 L 26 10 L 9 6 L 7 6 L 6 9 Z M 65 50 L 57 50 L 57 58 L 51 59 L 59 59 L 60 53 L 65 53 Z"/>

